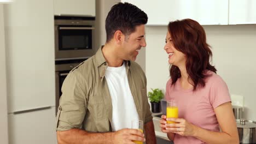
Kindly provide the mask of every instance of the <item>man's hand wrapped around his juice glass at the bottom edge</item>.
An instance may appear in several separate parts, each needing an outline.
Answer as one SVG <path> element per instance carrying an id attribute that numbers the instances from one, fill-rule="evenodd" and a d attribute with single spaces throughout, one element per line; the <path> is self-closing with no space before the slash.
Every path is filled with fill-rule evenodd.
<path id="1" fill-rule="evenodd" d="M 113 143 L 134 143 L 132 141 L 144 142 L 144 134 L 137 129 L 121 129 L 114 132 Z"/>

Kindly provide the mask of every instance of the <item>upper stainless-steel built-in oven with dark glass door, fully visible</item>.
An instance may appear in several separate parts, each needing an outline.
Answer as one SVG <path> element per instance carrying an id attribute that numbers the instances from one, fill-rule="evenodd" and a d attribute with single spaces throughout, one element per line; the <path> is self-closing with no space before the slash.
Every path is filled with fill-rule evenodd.
<path id="1" fill-rule="evenodd" d="M 94 55 L 95 17 L 54 16 L 55 59 Z"/>

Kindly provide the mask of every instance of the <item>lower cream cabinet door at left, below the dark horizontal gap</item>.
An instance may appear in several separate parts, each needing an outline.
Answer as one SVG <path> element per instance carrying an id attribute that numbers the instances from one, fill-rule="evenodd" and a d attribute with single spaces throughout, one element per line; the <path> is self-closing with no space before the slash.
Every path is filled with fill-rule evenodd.
<path id="1" fill-rule="evenodd" d="M 10 144 L 55 144 L 55 107 L 33 112 L 9 114 Z"/>

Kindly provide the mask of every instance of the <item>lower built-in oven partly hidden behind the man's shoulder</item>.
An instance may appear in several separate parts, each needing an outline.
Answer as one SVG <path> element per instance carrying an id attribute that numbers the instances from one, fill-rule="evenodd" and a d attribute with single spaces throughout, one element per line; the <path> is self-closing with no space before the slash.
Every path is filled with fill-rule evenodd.
<path id="1" fill-rule="evenodd" d="M 62 95 L 61 87 L 64 80 L 66 79 L 69 71 L 71 71 L 74 67 L 77 67 L 78 64 L 82 63 L 85 60 L 86 58 L 55 61 L 56 113 L 57 107 L 59 106 L 59 100 Z"/>

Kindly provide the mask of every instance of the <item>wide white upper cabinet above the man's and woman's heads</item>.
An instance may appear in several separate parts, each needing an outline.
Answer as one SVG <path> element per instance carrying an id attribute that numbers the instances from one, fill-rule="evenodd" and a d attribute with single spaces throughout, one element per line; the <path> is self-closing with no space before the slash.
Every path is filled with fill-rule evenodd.
<path id="1" fill-rule="evenodd" d="M 228 0 L 122 0 L 137 5 L 148 15 L 147 25 L 167 25 L 181 19 L 193 19 L 201 25 L 228 25 Z"/>

